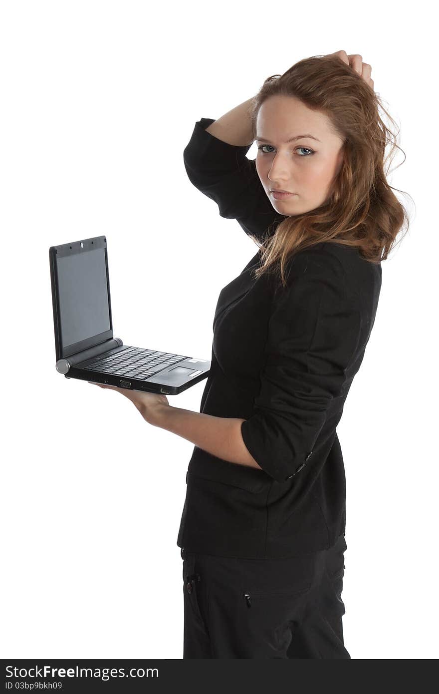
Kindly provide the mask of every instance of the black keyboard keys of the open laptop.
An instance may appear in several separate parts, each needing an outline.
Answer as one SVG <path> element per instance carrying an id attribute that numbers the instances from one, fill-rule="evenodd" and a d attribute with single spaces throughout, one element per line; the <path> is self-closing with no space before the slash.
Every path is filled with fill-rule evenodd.
<path id="1" fill-rule="evenodd" d="M 157 371 L 166 369 L 166 366 L 172 366 L 187 358 L 179 354 L 157 352 L 152 349 L 127 347 L 107 357 L 99 357 L 91 364 L 82 368 L 87 369 L 87 371 L 102 371 L 103 373 L 134 376 L 140 380 L 146 380 L 157 373 Z"/>

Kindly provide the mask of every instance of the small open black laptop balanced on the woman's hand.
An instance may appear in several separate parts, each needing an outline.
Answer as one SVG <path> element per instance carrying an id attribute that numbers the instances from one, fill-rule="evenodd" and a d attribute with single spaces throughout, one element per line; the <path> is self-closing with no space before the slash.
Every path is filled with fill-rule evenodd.
<path id="1" fill-rule="evenodd" d="M 113 337 L 105 236 L 51 246 L 49 259 L 58 373 L 166 395 L 207 378 L 207 359 L 124 345 Z"/>

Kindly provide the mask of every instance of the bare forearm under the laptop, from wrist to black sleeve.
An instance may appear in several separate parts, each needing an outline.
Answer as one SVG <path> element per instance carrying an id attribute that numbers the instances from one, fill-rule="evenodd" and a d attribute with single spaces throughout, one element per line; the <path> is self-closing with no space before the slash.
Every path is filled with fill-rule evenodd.
<path id="1" fill-rule="evenodd" d="M 154 407 L 146 421 L 191 441 L 217 458 L 261 469 L 243 442 L 241 424 L 245 419 L 214 417 L 203 412 L 163 405 Z"/>

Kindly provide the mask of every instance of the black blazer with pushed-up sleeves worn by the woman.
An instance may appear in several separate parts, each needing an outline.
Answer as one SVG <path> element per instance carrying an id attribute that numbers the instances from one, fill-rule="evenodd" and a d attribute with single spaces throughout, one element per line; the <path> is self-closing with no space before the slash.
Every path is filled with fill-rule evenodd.
<path id="1" fill-rule="evenodd" d="M 191 183 L 262 239 L 285 217 L 271 205 L 249 146 L 196 122 L 184 149 Z M 246 419 L 243 441 L 261 470 L 194 446 L 177 544 L 224 557 L 293 557 L 345 534 L 346 482 L 336 426 L 375 321 L 381 264 L 322 243 L 289 262 L 288 287 L 252 269 L 224 287 L 200 412 Z M 276 288 L 277 287 L 277 288 Z"/>

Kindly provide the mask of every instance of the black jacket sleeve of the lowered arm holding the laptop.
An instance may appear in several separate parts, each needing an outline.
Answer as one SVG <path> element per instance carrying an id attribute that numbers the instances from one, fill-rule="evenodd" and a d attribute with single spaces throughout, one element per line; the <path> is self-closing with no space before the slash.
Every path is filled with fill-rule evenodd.
<path id="1" fill-rule="evenodd" d="M 296 254 L 273 299 L 255 414 L 241 424 L 250 454 L 277 482 L 310 457 L 360 339 L 359 298 L 347 293 L 343 266 L 310 251 Z"/>

